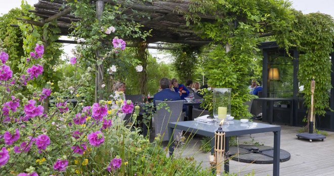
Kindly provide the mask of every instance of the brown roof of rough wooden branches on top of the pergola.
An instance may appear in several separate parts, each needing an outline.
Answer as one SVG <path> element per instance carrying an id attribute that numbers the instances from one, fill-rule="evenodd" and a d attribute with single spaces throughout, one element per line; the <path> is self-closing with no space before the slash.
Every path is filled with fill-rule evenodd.
<path id="1" fill-rule="evenodd" d="M 145 31 L 152 30 L 151 36 L 147 38 L 148 43 L 154 42 L 168 42 L 168 43 L 183 43 L 191 45 L 205 45 L 211 42 L 211 40 L 201 39 L 198 35 L 186 25 L 184 19 L 184 13 L 189 12 L 189 0 L 155 0 L 153 3 L 140 4 L 136 1 L 134 3 L 126 3 L 128 1 L 91 1 L 97 5 L 97 18 L 100 18 L 103 12 L 104 3 L 112 5 L 120 4 L 124 8 L 124 14 L 131 15 L 133 11 L 138 13 L 149 14 L 147 17 L 136 16 L 134 21 L 138 22 L 144 27 Z M 80 17 L 71 15 L 71 9 L 66 7 L 66 1 L 63 0 L 39 0 L 34 5 L 35 10 L 30 12 L 35 13 L 36 16 L 41 17 L 43 20 L 34 22 L 30 20 L 24 20 L 25 22 L 33 25 L 42 26 L 44 23 L 57 20 L 58 27 L 61 30 L 59 35 L 68 35 L 71 33 L 71 23 L 80 21 Z M 200 15 L 202 20 L 214 21 L 213 16 Z M 75 43 L 74 41 L 62 41 L 66 43 Z"/>

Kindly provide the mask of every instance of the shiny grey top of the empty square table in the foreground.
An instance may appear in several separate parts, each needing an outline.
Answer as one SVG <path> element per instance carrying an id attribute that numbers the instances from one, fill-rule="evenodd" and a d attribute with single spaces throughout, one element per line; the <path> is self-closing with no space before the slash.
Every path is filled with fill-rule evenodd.
<path id="1" fill-rule="evenodd" d="M 175 128 L 199 135 L 214 137 L 215 132 L 218 130 L 218 123 L 204 123 L 197 121 L 185 121 L 185 122 L 172 122 L 168 124 L 168 127 Z M 256 122 L 241 123 L 239 120 L 227 121 L 222 126 L 225 131 L 225 136 L 237 136 L 246 134 L 266 133 L 280 131 L 281 127 L 276 125 L 269 125 Z"/>

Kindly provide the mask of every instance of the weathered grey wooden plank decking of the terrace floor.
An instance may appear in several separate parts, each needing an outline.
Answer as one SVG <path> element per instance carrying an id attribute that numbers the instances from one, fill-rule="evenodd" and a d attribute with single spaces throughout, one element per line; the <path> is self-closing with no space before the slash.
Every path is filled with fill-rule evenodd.
<path id="1" fill-rule="evenodd" d="M 334 175 L 334 132 L 327 132 L 326 139 L 298 140 L 296 134 L 299 127 L 281 126 L 281 149 L 288 151 L 291 158 L 280 163 L 280 175 Z M 273 146 L 273 133 L 253 134 L 255 142 Z M 203 167 L 210 166 L 208 156 L 210 153 L 198 151 L 201 138 L 193 138 L 187 145 L 188 149 L 183 152 L 184 156 L 194 156 L 197 161 L 202 161 Z M 239 136 L 239 144 L 251 141 L 249 135 Z M 272 164 L 250 164 L 230 161 L 230 172 L 244 175 L 254 170 L 255 175 L 272 175 Z"/>

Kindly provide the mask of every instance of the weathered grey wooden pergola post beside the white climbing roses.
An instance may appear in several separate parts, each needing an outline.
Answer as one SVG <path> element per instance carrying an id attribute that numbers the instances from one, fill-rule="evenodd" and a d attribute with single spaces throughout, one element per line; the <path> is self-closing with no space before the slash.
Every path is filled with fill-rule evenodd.
<path id="1" fill-rule="evenodd" d="M 101 21 L 101 16 L 104 8 L 103 1 L 99 0 L 96 2 L 96 18 Z M 102 47 L 101 47 L 102 48 Z M 100 57 L 101 48 L 96 50 L 96 59 Z M 95 74 L 95 102 L 99 102 L 103 98 L 103 92 L 101 85 L 103 84 L 103 64 L 96 66 Z"/>

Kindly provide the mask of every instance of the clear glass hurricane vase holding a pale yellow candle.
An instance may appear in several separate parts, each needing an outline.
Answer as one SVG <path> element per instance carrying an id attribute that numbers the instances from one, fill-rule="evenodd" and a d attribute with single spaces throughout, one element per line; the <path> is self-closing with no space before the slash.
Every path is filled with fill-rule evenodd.
<path id="1" fill-rule="evenodd" d="M 231 116 L 231 88 L 214 88 L 214 117 L 218 120 Z"/>

